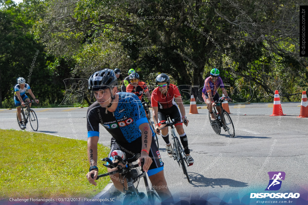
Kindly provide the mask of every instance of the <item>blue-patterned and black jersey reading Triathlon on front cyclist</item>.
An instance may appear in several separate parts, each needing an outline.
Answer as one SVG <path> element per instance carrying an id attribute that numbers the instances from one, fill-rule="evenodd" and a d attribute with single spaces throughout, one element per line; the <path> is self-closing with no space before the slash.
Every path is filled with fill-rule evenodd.
<path id="1" fill-rule="evenodd" d="M 119 103 L 115 112 L 108 111 L 106 114 L 106 108 L 102 108 L 98 102 L 88 108 L 88 137 L 99 136 L 99 124 L 102 124 L 118 143 L 128 144 L 141 138 L 139 126 L 148 123 L 141 101 L 133 93 L 117 94 Z M 153 130 L 152 136 L 155 136 Z"/>

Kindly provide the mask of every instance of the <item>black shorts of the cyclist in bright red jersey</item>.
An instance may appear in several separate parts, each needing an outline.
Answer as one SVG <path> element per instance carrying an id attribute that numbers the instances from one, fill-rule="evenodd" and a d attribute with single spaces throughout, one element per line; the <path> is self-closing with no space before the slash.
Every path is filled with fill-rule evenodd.
<path id="1" fill-rule="evenodd" d="M 175 119 L 175 121 L 177 122 L 175 126 L 183 124 L 182 115 L 177 105 L 172 105 L 172 107 L 166 108 L 166 109 L 158 108 L 157 115 L 158 115 L 158 121 L 159 121 L 158 126 L 160 126 L 161 123 L 167 121 L 167 115 L 169 115 L 171 120 Z"/>

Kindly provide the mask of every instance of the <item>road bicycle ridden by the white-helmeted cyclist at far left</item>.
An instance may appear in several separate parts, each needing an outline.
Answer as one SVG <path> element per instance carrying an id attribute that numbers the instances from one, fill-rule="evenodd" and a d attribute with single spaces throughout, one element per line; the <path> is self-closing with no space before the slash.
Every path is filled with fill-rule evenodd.
<path id="1" fill-rule="evenodd" d="M 21 106 L 21 119 L 22 119 L 22 122 L 23 124 L 26 126 L 26 124 L 28 122 L 30 122 L 30 125 L 31 125 L 31 128 L 34 130 L 34 131 L 37 131 L 38 130 L 38 127 L 39 127 L 39 122 L 38 122 L 38 118 L 34 112 L 34 110 L 32 110 L 30 108 L 30 103 L 32 103 L 33 100 L 31 100 L 30 102 L 25 102 L 25 111 L 23 109 L 23 106 Z M 19 127 L 21 128 L 21 124 L 19 122 L 19 119 L 18 119 L 18 113 L 16 113 L 17 115 L 17 122 L 18 122 L 18 125 Z"/>

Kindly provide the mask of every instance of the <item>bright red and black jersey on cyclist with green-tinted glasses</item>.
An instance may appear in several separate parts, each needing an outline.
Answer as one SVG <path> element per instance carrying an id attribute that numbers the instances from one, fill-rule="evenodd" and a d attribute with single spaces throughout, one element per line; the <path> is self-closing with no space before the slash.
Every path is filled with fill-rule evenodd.
<path id="1" fill-rule="evenodd" d="M 180 96 L 179 89 L 173 84 L 168 85 L 166 95 L 162 94 L 159 88 L 155 88 L 151 96 L 152 107 L 158 107 L 159 109 L 171 108 L 173 105 L 176 105 L 174 98 Z"/>

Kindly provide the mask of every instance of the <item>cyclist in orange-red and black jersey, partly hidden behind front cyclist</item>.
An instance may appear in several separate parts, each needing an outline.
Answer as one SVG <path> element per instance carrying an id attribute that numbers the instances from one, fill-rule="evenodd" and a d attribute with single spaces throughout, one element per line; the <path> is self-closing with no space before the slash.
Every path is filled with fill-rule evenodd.
<path id="1" fill-rule="evenodd" d="M 144 102 L 144 99 L 142 98 L 142 94 L 144 93 L 148 97 L 148 101 L 151 103 L 151 95 L 149 89 L 147 85 L 145 85 L 145 82 L 140 81 L 139 78 L 140 77 L 138 73 L 131 73 L 129 75 L 131 83 L 126 87 L 126 92 L 135 93 L 141 102 Z"/>

